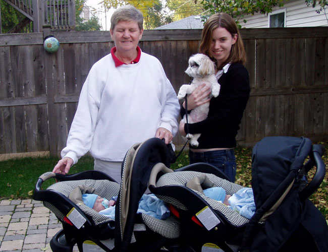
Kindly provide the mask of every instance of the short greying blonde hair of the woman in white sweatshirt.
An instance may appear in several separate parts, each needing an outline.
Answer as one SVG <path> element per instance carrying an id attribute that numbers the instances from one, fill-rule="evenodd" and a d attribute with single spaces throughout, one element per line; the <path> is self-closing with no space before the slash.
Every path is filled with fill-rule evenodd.
<path id="1" fill-rule="evenodd" d="M 113 13 L 111 17 L 111 30 L 120 21 L 137 21 L 139 29 L 143 29 L 143 16 L 142 13 L 132 5 L 121 6 Z"/>

